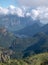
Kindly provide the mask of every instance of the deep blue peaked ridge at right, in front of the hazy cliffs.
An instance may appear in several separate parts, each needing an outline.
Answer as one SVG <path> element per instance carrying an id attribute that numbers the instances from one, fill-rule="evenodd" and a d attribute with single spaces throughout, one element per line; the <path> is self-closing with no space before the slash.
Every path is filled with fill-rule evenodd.
<path id="1" fill-rule="evenodd" d="M 39 21 L 39 20 L 38 20 Z M 15 34 L 18 34 L 19 36 L 23 35 L 23 36 L 34 36 L 36 33 L 39 32 L 44 32 L 46 34 L 48 34 L 48 24 L 41 24 L 38 21 L 36 21 L 36 23 L 34 22 L 33 24 L 24 27 L 23 29 L 19 30 L 19 31 L 14 31 Z"/>

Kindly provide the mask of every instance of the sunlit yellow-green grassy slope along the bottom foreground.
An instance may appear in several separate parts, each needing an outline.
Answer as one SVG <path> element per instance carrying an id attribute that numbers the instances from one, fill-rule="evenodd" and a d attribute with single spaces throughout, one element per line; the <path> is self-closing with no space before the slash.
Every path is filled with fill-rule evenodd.
<path id="1" fill-rule="evenodd" d="M 37 54 L 27 57 L 25 59 L 10 59 L 9 61 L 0 65 L 48 65 L 48 53 Z"/>

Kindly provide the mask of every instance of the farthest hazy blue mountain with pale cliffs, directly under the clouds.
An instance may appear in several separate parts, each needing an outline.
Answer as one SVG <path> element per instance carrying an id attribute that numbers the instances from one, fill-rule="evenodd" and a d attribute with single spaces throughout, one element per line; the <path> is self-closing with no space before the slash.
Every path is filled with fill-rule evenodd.
<path id="1" fill-rule="evenodd" d="M 37 21 L 33 20 L 30 16 L 19 17 L 18 15 L 1 15 L 0 26 L 5 26 L 9 31 L 21 30 Z"/>

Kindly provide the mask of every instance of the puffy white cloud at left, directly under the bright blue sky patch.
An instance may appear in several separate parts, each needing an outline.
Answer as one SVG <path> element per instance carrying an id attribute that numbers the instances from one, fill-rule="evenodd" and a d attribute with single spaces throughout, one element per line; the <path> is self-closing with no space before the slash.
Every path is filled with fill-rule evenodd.
<path id="1" fill-rule="evenodd" d="M 10 5 L 8 8 L 0 7 L 0 15 L 7 14 L 17 14 L 18 16 L 24 16 L 23 10 L 19 7 Z"/>

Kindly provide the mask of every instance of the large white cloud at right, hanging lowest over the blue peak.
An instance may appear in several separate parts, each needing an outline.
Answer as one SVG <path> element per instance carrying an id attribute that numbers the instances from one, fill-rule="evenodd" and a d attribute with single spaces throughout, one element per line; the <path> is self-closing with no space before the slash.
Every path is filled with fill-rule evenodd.
<path id="1" fill-rule="evenodd" d="M 48 23 L 48 8 L 47 7 L 38 7 L 32 10 L 32 18 L 35 20 L 40 19 L 42 23 Z"/>

